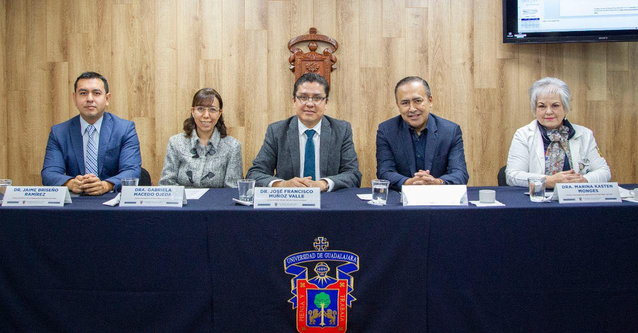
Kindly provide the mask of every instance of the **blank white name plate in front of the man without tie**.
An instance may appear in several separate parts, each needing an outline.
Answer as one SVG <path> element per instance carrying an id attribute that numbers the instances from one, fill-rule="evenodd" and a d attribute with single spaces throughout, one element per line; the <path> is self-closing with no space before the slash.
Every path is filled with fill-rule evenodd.
<path id="1" fill-rule="evenodd" d="M 460 206 L 468 205 L 468 187 L 465 185 L 404 185 L 401 186 L 404 206 Z"/>

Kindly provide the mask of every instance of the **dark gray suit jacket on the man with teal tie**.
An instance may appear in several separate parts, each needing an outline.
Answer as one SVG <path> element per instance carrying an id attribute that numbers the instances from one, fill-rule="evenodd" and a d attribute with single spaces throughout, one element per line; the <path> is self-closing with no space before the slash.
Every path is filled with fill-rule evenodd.
<path id="1" fill-rule="evenodd" d="M 334 181 L 332 191 L 360 186 L 361 173 L 349 122 L 323 116 L 319 158 L 320 178 Z M 268 186 L 276 179 L 288 180 L 299 175 L 299 125 L 294 115 L 268 126 L 262 149 L 246 177 L 255 179 L 255 186 Z"/>

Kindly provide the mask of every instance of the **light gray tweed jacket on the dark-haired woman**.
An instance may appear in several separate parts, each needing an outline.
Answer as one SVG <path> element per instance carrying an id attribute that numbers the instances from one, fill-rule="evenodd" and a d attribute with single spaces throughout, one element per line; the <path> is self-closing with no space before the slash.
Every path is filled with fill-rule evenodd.
<path id="1" fill-rule="evenodd" d="M 237 139 L 230 135 L 221 138 L 215 129 L 207 145 L 203 146 L 193 129 L 190 138 L 179 133 L 168 140 L 159 185 L 236 188 L 242 172 L 241 144 Z"/>

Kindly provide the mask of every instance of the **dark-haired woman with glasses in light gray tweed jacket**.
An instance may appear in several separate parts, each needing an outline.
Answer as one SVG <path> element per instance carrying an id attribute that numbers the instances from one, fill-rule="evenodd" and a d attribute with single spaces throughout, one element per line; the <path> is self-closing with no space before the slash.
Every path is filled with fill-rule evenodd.
<path id="1" fill-rule="evenodd" d="M 226 135 L 223 101 L 212 88 L 193 96 L 184 133 L 168 140 L 159 185 L 187 188 L 236 188 L 242 179 L 241 144 Z"/>

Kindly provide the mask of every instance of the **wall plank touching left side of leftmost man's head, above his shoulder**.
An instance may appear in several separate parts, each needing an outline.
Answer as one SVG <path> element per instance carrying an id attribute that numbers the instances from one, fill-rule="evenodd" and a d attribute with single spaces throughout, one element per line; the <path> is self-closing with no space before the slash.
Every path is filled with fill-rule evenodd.
<path id="1" fill-rule="evenodd" d="M 70 108 L 69 100 L 73 86 L 69 82 L 69 63 L 48 63 L 48 82 L 51 91 L 51 113 L 47 125 L 59 124 L 78 114 L 77 108 Z M 74 81 L 75 82 L 75 81 Z M 48 131 L 47 131 L 48 133 Z"/>

